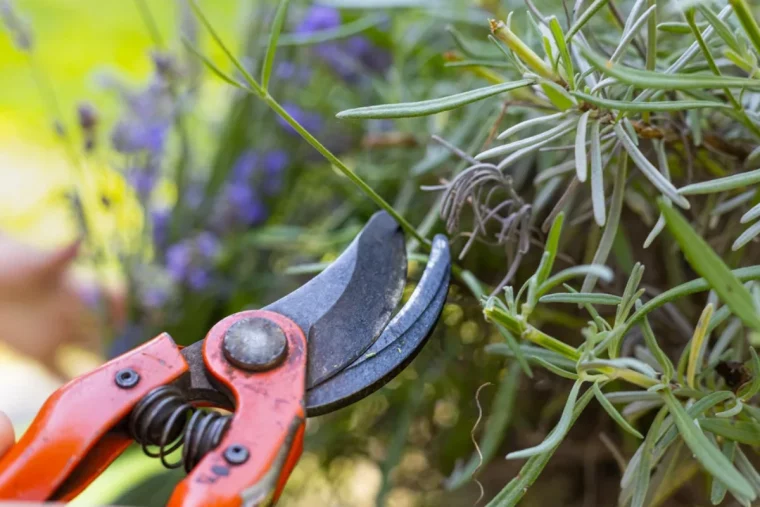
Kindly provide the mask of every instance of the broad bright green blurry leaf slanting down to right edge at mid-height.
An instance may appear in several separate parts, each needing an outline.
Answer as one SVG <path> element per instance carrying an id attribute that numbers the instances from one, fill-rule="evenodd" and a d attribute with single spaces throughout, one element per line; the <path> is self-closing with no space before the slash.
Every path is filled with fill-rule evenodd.
<path id="1" fill-rule="evenodd" d="M 760 318 L 755 312 L 749 291 L 675 208 L 669 208 L 662 200 L 659 200 L 658 204 L 668 229 L 681 246 L 694 271 L 707 280 L 737 317 L 746 325 L 760 331 Z"/>

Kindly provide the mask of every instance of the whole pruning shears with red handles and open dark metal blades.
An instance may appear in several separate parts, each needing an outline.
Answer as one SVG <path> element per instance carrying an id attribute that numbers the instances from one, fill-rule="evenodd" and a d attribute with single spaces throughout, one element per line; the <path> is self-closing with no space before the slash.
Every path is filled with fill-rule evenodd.
<path id="1" fill-rule="evenodd" d="M 171 506 L 274 504 L 301 455 L 306 417 L 379 389 L 429 338 L 449 287 L 446 238 L 435 237 L 394 315 L 406 266 L 403 231 L 376 213 L 284 298 L 224 318 L 188 347 L 160 334 L 70 381 L 0 460 L 0 499 L 70 500 L 136 441 L 167 467 L 185 467 Z"/>

